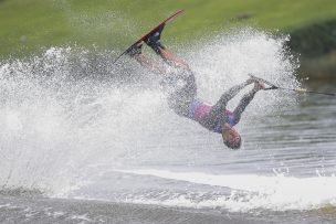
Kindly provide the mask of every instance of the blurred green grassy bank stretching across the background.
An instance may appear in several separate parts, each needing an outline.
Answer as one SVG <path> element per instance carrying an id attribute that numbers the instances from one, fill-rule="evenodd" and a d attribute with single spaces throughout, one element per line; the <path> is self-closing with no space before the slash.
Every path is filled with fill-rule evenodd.
<path id="1" fill-rule="evenodd" d="M 165 31 L 168 42 L 182 43 L 190 36 L 198 40 L 232 25 L 252 24 L 293 33 L 293 46 L 301 51 L 302 40 L 314 40 L 305 42 L 314 45 L 321 35 L 332 39 L 324 28 L 313 28 L 307 36 L 312 25 L 332 21 L 336 32 L 333 0 L 0 0 L 0 57 L 70 44 L 123 50 L 178 9 L 186 12 Z M 330 51 L 335 49 L 332 43 Z"/>

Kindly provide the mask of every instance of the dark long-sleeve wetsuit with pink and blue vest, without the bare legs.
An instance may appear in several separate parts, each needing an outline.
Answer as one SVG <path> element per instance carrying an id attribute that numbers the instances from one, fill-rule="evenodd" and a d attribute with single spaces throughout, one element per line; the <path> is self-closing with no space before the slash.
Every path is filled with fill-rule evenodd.
<path id="1" fill-rule="evenodd" d="M 231 87 L 212 106 L 197 98 L 197 85 L 195 82 L 195 76 L 190 71 L 177 76 L 172 74 L 172 76 L 174 77 L 170 77 L 170 79 L 174 79 L 175 82 L 166 82 L 174 88 L 168 96 L 169 107 L 176 114 L 196 120 L 207 129 L 214 132 L 221 132 L 221 126 L 225 122 L 231 127 L 235 126 L 240 121 L 242 113 L 245 110 L 246 106 L 250 104 L 256 93 L 255 89 L 252 89 L 245 94 L 240 100 L 238 107 L 232 113 L 227 109 L 228 102 L 250 83 L 244 82 L 240 85 Z M 176 85 L 177 81 L 183 83 L 182 87 Z"/>

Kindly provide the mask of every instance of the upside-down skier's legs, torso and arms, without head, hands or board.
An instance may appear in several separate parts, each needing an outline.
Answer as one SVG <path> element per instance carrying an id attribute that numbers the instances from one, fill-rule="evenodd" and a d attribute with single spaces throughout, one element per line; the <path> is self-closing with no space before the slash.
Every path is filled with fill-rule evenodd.
<path id="1" fill-rule="evenodd" d="M 189 70 L 187 64 L 185 64 L 182 61 L 176 63 L 175 56 L 172 61 L 170 61 L 171 58 L 164 55 L 162 50 L 159 50 L 157 53 L 166 62 L 168 62 L 168 64 L 175 65 L 177 71 L 167 72 L 164 67 L 149 62 L 143 55 L 136 56 L 136 60 L 149 70 L 165 74 L 160 85 L 166 90 L 168 89 L 168 105 L 176 114 L 196 120 L 211 131 L 221 132 L 221 127 L 223 124 L 229 124 L 231 127 L 235 126 L 240 121 L 242 113 L 245 110 L 246 106 L 258 92 L 252 89 L 242 97 L 238 107 L 233 111 L 228 110 L 228 102 L 250 84 L 249 82 L 244 82 L 227 90 L 212 106 L 197 98 L 195 75 Z M 176 64 L 181 65 L 176 66 Z"/>

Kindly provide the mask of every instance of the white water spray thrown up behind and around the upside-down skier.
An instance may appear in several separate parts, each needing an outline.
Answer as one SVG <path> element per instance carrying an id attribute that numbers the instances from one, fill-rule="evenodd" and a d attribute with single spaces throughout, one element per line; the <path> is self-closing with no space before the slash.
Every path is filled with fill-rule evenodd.
<path id="1" fill-rule="evenodd" d="M 298 87 L 297 63 L 286 41 L 244 29 L 179 55 L 196 75 L 199 96 L 216 103 L 250 73 Z M 170 111 L 157 75 L 126 58 L 113 65 L 113 54 L 52 47 L 0 63 L 0 185 L 66 195 L 111 169 L 195 166 L 211 171 L 207 166 L 230 157 L 219 136 Z M 242 135 L 252 121 L 296 105 L 284 92 L 255 98 L 238 126 Z"/>

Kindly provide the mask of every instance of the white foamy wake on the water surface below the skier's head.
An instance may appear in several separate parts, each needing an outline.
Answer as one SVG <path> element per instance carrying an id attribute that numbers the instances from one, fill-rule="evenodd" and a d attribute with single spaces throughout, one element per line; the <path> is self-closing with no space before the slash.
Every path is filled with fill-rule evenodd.
<path id="1" fill-rule="evenodd" d="M 129 202 L 187 206 L 196 209 L 227 209 L 233 212 L 248 212 L 263 209 L 273 211 L 313 210 L 326 205 L 336 205 L 336 178 L 314 177 L 264 177 L 244 174 L 209 174 L 202 172 L 171 172 L 168 170 L 116 170 L 124 173 L 153 175 L 176 181 L 225 186 L 231 195 L 219 195 L 216 199 L 190 198 L 188 193 L 169 195 L 168 199 L 138 199 Z M 241 191 L 245 191 L 241 193 Z M 196 202 L 197 201 L 197 202 Z"/>

